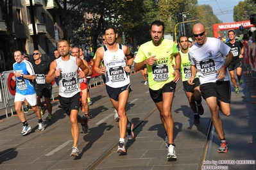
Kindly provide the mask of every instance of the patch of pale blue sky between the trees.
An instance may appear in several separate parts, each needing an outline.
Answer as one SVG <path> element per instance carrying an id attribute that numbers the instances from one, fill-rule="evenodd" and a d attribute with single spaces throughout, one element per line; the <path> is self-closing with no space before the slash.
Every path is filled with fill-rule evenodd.
<path id="1" fill-rule="evenodd" d="M 243 1 L 243 0 L 240 0 Z M 239 3 L 237 0 L 198 0 L 198 4 L 209 4 L 214 14 L 223 23 L 234 22 L 233 9 Z"/>

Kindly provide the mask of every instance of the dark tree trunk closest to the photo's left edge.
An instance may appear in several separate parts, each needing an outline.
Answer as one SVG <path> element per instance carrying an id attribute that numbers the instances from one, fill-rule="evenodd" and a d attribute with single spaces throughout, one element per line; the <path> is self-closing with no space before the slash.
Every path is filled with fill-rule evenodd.
<path id="1" fill-rule="evenodd" d="M 8 35 L 8 43 L 9 43 L 9 52 L 8 56 L 10 56 L 7 60 L 7 65 L 12 65 L 15 62 L 14 58 L 12 57 L 12 53 L 15 50 L 15 43 L 14 43 L 14 36 L 13 36 L 13 1 L 12 0 L 0 0 L 0 6 L 3 13 L 3 19 L 5 20 L 6 24 L 6 33 Z"/>

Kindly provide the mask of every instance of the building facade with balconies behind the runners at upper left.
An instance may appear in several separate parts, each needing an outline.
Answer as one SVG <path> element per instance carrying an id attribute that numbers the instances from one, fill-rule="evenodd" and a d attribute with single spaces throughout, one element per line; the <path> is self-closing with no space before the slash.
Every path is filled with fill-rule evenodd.
<path id="1" fill-rule="evenodd" d="M 32 4 L 30 4 L 30 0 L 13 0 L 15 48 L 28 53 L 30 61 L 33 61 L 34 49 L 42 52 L 42 59 L 52 61 L 54 59 L 53 50 L 56 49 L 58 40 L 64 38 L 62 21 L 67 16 L 62 15 L 60 10 L 56 8 L 54 0 L 47 0 L 47 3 L 45 0 L 31 0 L 31 2 Z M 35 27 L 35 31 L 33 31 L 33 27 Z M 71 19 L 68 22 L 67 37 L 68 39 L 73 38 Z M 8 36 L 1 9 L 0 56 L 0 72 L 12 69 L 10 65 L 6 66 L 6 60 L 13 56 L 8 56 Z"/>

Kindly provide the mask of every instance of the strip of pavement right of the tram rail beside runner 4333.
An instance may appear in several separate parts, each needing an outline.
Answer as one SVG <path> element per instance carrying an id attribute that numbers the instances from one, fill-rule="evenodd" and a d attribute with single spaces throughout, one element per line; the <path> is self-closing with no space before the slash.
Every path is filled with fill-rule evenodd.
<path id="1" fill-rule="evenodd" d="M 214 162 L 218 162 L 217 166 L 226 166 L 228 169 L 256 169 L 256 87 L 252 86 L 248 73 L 243 72 L 242 77 L 244 83 L 239 85 L 238 94 L 234 93 L 234 85 L 231 82 L 231 115 L 226 117 L 221 114 L 228 153 L 217 152 L 220 141 L 214 133 L 212 145 L 205 158 L 205 166 L 214 166 Z M 225 161 L 228 163 L 225 164 Z"/>

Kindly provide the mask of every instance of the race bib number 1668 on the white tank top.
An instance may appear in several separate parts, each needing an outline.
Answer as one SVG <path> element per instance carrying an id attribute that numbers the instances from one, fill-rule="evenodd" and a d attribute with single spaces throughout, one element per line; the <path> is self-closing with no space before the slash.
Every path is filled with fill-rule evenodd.
<path id="1" fill-rule="evenodd" d="M 110 76 L 109 79 L 112 82 L 117 82 L 117 81 L 124 81 L 125 80 L 125 72 L 123 66 L 115 66 L 115 67 L 110 67 L 109 68 L 109 73 Z"/>

